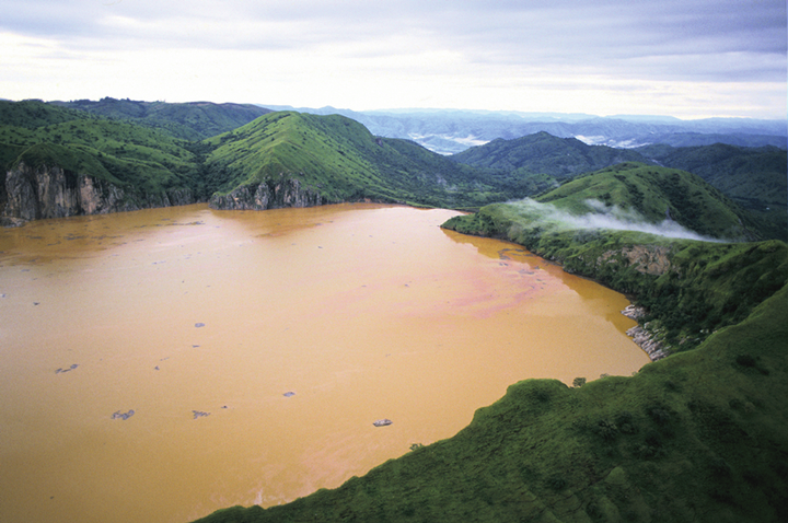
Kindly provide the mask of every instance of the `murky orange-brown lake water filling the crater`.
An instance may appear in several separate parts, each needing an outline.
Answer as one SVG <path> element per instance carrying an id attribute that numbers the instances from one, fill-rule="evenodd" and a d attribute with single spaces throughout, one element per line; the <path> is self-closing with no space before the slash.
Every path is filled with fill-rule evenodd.
<path id="1" fill-rule="evenodd" d="M 0 230 L 0 521 L 282 503 L 453 435 L 519 380 L 648 362 L 624 297 L 438 226 L 455 213 L 187 206 Z"/>

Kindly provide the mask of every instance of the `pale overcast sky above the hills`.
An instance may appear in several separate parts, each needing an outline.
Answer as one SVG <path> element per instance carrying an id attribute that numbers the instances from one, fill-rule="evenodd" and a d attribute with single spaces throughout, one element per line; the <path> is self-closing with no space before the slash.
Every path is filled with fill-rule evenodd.
<path id="1" fill-rule="evenodd" d="M 786 0 L 0 0 L 0 98 L 786 118 Z"/>

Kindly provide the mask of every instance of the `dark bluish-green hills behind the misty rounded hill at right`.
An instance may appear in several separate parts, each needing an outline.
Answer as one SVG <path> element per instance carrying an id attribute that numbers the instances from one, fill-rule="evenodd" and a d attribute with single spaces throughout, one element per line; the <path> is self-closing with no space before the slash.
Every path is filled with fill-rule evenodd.
<path id="1" fill-rule="evenodd" d="M 494 140 L 451 156 L 470 165 L 501 170 L 530 178 L 543 173 L 566 182 L 618 163 L 646 163 L 696 174 L 739 204 L 748 229 L 764 237 L 788 240 L 788 161 L 776 147 L 746 148 L 717 143 L 674 148 L 665 144 L 634 150 L 587 146 L 575 138 L 538 132 Z M 541 189 L 549 189 L 549 184 Z"/>

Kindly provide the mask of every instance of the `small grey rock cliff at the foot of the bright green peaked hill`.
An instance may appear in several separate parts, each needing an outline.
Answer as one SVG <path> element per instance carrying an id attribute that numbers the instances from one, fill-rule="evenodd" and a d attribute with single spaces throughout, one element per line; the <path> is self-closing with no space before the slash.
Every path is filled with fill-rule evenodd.
<path id="1" fill-rule="evenodd" d="M 266 210 L 285 207 L 314 207 L 328 204 L 320 193 L 302 187 L 296 178 L 242 185 L 227 195 L 213 195 L 210 207 L 223 210 Z"/>

